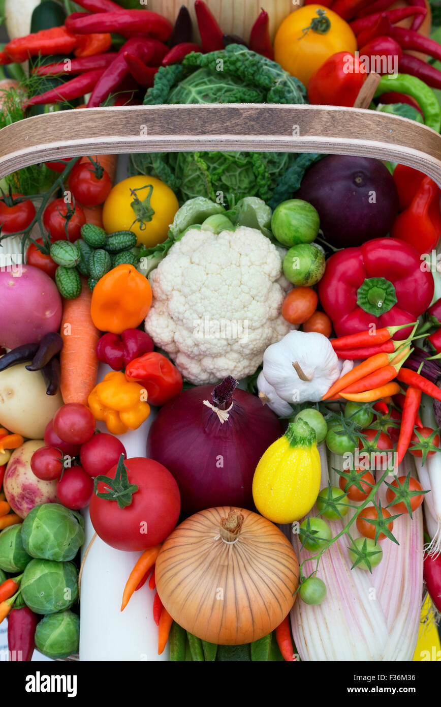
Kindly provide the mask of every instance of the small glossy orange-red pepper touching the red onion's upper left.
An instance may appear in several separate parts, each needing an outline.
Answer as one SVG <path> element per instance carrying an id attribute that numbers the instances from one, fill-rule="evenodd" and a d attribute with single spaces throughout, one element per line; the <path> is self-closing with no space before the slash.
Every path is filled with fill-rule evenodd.
<path id="1" fill-rule="evenodd" d="M 140 382 L 152 405 L 163 405 L 182 390 L 182 375 L 163 354 L 153 351 L 134 358 L 126 368 L 126 378 Z"/>

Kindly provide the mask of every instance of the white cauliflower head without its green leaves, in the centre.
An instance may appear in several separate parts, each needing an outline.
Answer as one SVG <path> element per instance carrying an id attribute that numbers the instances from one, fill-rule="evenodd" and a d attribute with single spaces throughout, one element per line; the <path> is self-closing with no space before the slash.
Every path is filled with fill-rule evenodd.
<path id="1" fill-rule="evenodd" d="M 282 262 L 255 228 L 188 230 L 149 276 L 146 332 L 194 385 L 252 375 L 294 328 L 281 315 L 292 288 Z"/>

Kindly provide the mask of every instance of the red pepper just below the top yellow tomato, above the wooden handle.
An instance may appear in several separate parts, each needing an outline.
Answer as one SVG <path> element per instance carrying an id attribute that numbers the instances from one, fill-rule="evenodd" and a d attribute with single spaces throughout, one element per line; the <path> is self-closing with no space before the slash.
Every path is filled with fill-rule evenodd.
<path id="1" fill-rule="evenodd" d="M 365 66 L 358 58 L 349 52 L 337 52 L 312 74 L 308 99 L 318 105 L 352 107 L 366 78 Z"/>

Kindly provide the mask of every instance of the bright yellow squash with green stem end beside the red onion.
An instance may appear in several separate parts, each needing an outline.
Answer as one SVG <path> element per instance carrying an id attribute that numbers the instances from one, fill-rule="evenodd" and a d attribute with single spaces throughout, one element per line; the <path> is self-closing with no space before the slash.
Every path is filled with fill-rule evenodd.
<path id="1" fill-rule="evenodd" d="M 257 464 L 252 484 L 257 510 L 274 523 L 300 520 L 314 506 L 320 474 L 315 431 L 302 419 L 290 423 Z"/>

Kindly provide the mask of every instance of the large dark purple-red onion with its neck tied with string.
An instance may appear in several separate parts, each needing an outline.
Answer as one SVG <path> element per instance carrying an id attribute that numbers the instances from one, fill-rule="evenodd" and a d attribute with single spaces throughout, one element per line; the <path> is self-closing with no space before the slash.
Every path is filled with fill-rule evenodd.
<path id="1" fill-rule="evenodd" d="M 147 456 L 173 474 L 185 513 L 216 506 L 254 510 L 257 462 L 283 427 L 259 398 L 236 386 L 229 375 L 214 390 L 184 390 L 161 407 L 150 428 Z"/>

